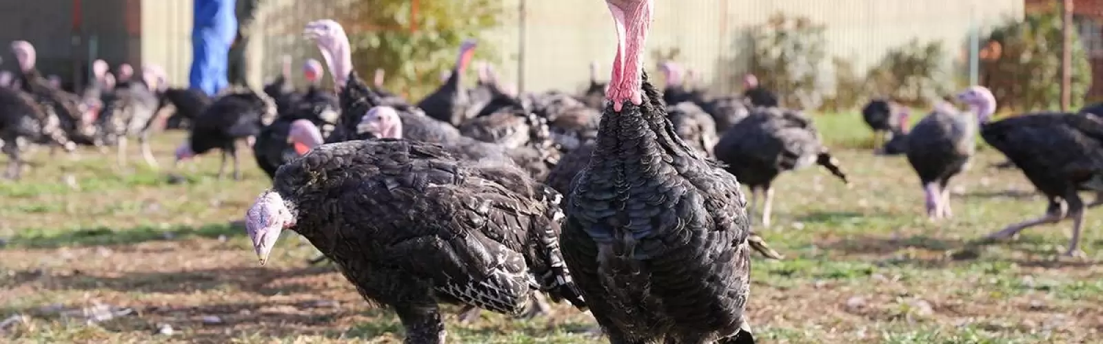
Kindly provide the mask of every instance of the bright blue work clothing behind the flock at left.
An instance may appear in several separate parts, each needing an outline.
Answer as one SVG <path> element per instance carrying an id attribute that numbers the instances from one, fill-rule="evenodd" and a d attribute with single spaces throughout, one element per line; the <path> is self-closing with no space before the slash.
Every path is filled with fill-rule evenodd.
<path id="1" fill-rule="evenodd" d="M 229 46 L 237 35 L 236 0 L 193 0 L 191 88 L 208 96 L 229 86 Z"/>

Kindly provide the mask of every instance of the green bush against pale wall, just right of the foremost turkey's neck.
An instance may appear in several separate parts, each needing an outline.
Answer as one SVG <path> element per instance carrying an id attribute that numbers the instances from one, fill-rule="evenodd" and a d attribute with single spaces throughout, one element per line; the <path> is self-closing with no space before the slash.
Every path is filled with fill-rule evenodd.
<path id="1" fill-rule="evenodd" d="M 822 105 L 821 68 L 827 58 L 824 31 L 824 25 L 807 18 L 782 13 L 749 31 L 750 73 L 778 94 L 782 106 L 817 109 Z"/>

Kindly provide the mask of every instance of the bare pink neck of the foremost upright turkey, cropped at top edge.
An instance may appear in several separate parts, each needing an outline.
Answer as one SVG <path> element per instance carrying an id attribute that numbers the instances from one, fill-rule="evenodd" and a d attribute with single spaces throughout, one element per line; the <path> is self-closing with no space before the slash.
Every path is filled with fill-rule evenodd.
<path id="1" fill-rule="evenodd" d="M 654 0 L 606 0 L 617 29 L 617 57 L 606 98 L 620 111 L 624 101 L 643 104 L 643 53 Z"/>

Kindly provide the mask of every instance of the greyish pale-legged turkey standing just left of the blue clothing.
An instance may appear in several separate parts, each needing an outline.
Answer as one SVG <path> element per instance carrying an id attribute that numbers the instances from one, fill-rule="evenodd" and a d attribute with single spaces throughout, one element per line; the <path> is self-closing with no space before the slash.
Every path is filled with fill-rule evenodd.
<path id="1" fill-rule="evenodd" d="M 132 73 L 132 72 L 131 72 Z M 120 73 L 121 74 L 121 73 Z M 142 68 L 142 80 L 118 84 L 109 95 L 105 94 L 104 110 L 97 118 L 101 136 L 107 143 L 114 143 L 118 149 L 117 162 L 126 165 L 127 137 L 137 136 L 142 159 L 151 168 L 157 168 L 157 159 L 149 146 L 149 135 L 157 119 L 159 99 L 158 68 L 148 65 Z"/>

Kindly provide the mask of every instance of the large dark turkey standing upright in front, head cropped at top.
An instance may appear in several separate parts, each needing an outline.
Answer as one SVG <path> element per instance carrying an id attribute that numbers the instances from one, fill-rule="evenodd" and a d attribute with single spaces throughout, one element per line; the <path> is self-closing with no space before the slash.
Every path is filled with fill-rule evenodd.
<path id="1" fill-rule="evenodd" d="M 611 343 L 753 343 L 739 183 L 675 135 L 643 73 L 654 1 L 606 2 L 618 53 L 593 154 L 567 202 L 564 259 Z"/>

